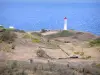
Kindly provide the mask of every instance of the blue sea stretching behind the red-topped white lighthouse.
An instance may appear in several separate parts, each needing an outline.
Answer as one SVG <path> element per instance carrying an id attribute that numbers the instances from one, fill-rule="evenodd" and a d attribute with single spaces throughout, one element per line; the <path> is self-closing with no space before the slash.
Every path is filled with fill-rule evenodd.
<path id="1" fill-rule="evenodd" d="M 68 29 L 100 35 L 99 3 L 0 3 L 0 24 L 26 31 Z"/>

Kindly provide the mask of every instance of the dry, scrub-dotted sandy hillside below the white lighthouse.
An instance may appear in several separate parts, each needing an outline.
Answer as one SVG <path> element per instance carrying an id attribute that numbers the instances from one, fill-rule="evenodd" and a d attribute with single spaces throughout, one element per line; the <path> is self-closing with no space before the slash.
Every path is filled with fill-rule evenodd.
<path id="1" fill-rule="evenodd" d="M 10 64 L 16 61 L 20 72 L 27 75 L 100 75 L 99 36 L 73 30 L 45 33 L 14 30 L 10 33 L 10 36 L 16 35 L 13 41 L 0 40 L 1 54 L 6 55 L 6 59 L 1 59 Z"/>

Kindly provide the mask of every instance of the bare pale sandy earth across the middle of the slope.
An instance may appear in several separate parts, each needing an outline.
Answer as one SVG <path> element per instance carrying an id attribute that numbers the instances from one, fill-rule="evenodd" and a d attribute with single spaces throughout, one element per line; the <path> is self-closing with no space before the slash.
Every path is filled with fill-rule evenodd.
<path id="1" fill-rule="evenodd" d="M 49 34 L 46 33 L 47 35 Z M 44 35 L 46 35 L 44 34 Z M 51 34 L 51 32 L 50 32 Z M 50 46 L 52 48 L 48 48 L 47 43 L 32 43 L 30 39 L 23 39 L 22 34 L 18 33 L 20 36 L 16 40 L 16 48 L 12 54 L 10 54 L 10 59 L 11 60 L 23 60 L 23 61 L 28 61 L 28 59 L 32 58 L 37 58 L 36 56 L 36 51 L 39 49 L 39 47 L 43 47 L 42 49 L 52 58 L 59 59 L 59 58 L 68 58 L 71 55 L 75 55 L 74 52 L 84 52 L 84 56 L 91 56 L 90 59 L 93 60 L 99 60 L 100 59 L 100 52 L 97 50 L 97 48 L 89 48 L 86 47 L 85 42 L 80 42 L 78 40 L 75 41 L 75 39 L 70 39 L 66 37 L 61 37 L 61 38 L 56 38 L 58 40 L 69 40 L 71 41 L 70 43 L 60 43 L 54 41 L 55 39 L 52 39 L 51 42 L 53 44 L 59 45 L 60 48 L 54 48 L 53 46 Z M 75 42 L 73 42 L 75 41 Z M 46 42 L 46 41 L 44 41 Z M 60 43 L 60 44 L 59 44 Z M 62 51 L 63 49 L 64 51 Z M 66 53 L 69 54 L 69 56 Z M 79 56 L 81 58 L 81 56 Z M 70 59 L 73 60 L 73 59 Z M 80 60 L 80 59 L 78 59 Z M 81 59 L 82 60 L 82 59 Z M 83 59 L 84 60 L 84 59 Z M 77 60 L 75 60 L 77 61 Z"/>

